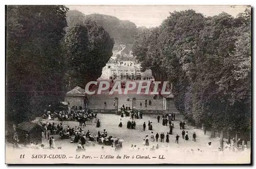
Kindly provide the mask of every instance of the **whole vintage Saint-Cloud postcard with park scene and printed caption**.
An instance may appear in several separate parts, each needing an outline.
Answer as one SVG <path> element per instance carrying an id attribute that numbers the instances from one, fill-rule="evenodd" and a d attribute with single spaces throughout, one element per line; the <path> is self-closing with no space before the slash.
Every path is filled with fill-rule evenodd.
<path id="1" fill-rule="evenodd" d="M 250 164 L 251 7 L 6 6 L 7 164 Z"/>

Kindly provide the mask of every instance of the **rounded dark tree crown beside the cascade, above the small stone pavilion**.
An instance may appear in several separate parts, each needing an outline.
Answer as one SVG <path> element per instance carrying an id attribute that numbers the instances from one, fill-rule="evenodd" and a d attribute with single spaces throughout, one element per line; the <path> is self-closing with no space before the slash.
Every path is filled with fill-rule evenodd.
<path id="1" fill-rule="evenodd" d="M 85 87 L 101 76 L 102 68 L 112 56 L 114 40 L 94 21 L 73 27 L 65 37 L 67 74 L 71 88 Z"/>

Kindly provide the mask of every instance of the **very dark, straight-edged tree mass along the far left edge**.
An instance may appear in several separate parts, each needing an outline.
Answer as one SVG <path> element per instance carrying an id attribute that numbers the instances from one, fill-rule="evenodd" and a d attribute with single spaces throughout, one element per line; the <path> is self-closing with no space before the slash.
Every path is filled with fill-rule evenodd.
<path id="1" fill-rule="evenodd" d="M 65 6 L 7 6 L 6 119 L 33 119 L 62 96 Z"/>

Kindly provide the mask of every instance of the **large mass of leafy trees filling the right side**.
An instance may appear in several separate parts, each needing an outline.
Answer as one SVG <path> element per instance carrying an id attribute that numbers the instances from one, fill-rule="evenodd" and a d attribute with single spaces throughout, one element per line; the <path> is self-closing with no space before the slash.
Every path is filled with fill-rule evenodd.
<path id="1" fill-rule="evenodd" d="M 172 83 L 176 108 L 198 127 L 250 131 L 251 13 L 173 12 L 143 29 L 133 53 L 156 80 Z"/>

